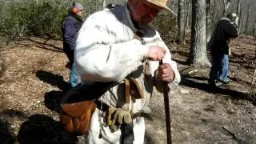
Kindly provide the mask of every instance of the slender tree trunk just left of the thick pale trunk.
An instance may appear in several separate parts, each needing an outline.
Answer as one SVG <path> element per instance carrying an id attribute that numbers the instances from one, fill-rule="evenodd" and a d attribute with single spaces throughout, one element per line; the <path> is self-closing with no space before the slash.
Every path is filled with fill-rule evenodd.
<path id="1" fill-rule="evenodd" d="M 178 41 L 185 44 L 185 10 L 184 0 L 178 0 Z"/>

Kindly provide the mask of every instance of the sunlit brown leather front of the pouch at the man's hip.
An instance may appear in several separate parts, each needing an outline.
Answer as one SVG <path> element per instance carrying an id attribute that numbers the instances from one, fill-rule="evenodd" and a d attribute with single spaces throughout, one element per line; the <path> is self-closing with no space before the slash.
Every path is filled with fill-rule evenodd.
<path id="1" fill-rule="evenodd" d="M 60 122 L 64 129 L 76 135 L 88 134 L 90 118 L 96 108 L 94 101 L 64 103 L 61 106 Z"/>

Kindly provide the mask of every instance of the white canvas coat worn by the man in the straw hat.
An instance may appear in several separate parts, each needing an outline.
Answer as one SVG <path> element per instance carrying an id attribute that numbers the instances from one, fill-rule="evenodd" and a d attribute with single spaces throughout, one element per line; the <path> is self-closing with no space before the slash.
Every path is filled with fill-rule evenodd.
<path id="1" fill-rule="evenodd" d="M 158 90 L 162 88 L 158 80 L 158 61 L 145 59 L 148 46 L 162 46 L 167 50 L 163 62 L 170 63 L 175 74 L 174 81 L 170 82 L 169 86 L 177 86 L 180 82 L 176 62 L 171 60 L 170 51 L 158 32 L 150 26 L 139 30 L 145 41 L 145 45 L 142 45 L 141 41 L 134 39 L 136 31 L 138 29 L 134 27 L 126 5 L 92 14 L 79 31 L 74 58 L 78 74 L 86 84 L 120 82 L 118 86 L 103 94 L 100 100 L 109 106 L 122 107 L 130 111 L 130 114 L 148 109 L 153 87 L 156 86 Z M 144 98 L 136 99 L 135 102 L 130 98 L 130 103 L 125 104 L 125 87 L 122 80 L 128 75 L 136 78 Z M 89 143 L 119 143 L 120 130 L 111 133 L 108 127 L 101 128 L 98 112 L 99 110 L 96 110 L 91 119 Z M 103 138 L 98 138 L 100 129 Z M 144 119 L 134 119 L 134 143 L 143 143 L 144 130 Z"/>

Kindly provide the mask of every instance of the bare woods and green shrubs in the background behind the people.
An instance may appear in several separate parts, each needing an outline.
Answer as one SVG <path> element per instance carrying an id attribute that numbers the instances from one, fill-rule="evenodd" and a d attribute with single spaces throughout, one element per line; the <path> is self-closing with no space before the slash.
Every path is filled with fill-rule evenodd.
<path id="1" fill-rule="evenodd" d="M 62 18 L 67 13 L 70 0 L 1 0 L 0 34 L 7 41 L 24 35 L 61 38 Z M 102 10 L 108 3 L 122 4 L 123 0 L 78 0 L 85 9 L 85 16 Z M 192 2 L 195 0 L 172 0 L 170 8 L 183 18 L 184 30 L 190 31 L 192 22 Z M 207 16 L 207 28 L 211 31 L 219 18 L 226 13 L 238 14 L 240 34 L 255 35 L 256 31 L 256 0 L 207 0 L 210 14 Z M 227 8 L 227 9 L 226 9 Z M 179 11 L 180 10 L 180 11 Z M 161 31 L 170 31 L 178 36 L 178 18 L 170 15 L 160 16 L 154 26 Z M 163 21 L 164 20 L 164 21 Z M 166 22 L 167 21 L 167 22 Z M 167 33 L 169 34 L 169 33 Z"/>

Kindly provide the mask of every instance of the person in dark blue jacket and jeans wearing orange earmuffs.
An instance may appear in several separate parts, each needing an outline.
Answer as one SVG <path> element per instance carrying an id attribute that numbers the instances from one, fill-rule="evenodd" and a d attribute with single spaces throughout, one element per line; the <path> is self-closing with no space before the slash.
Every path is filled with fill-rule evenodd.
<path id="1" fill-rule="evenodd" d="M 63 51 L 69 59 L 67 65 L 70 68 L 69 83 L 71 87 L 81 82 L 74 66 L 74 47 L 83 21 L 82 5 L 78 2 L 73 2 L 69 9 L 69 14 L 67 14 L 62 23 Z"/>

